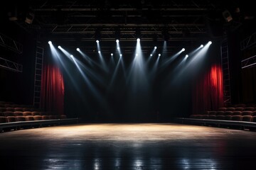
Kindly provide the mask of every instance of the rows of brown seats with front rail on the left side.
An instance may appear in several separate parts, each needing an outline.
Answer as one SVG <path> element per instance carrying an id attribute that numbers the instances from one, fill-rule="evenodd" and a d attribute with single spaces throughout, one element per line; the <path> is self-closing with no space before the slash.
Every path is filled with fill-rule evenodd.
<path id="1" fill-rule="evenodd" d="M 0 101 L 0 132 L 18 130 L 25 126 L 33 128 L 43 125 L 56 125 L 73 120 L 77 119 L 69 119 L 66 115 L 42 111 L 33 106 Z"/>

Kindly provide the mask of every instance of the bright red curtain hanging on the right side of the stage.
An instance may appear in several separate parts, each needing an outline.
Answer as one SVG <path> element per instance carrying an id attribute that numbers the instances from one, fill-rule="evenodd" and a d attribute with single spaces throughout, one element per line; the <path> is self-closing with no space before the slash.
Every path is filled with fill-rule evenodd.
<path id="1" fill-rule="evenodd" d="M 196 81 L 193 88 L 193 114 L 214 111 L 223 106 L 223 74 L 220 65 L 213 64 Z"/>

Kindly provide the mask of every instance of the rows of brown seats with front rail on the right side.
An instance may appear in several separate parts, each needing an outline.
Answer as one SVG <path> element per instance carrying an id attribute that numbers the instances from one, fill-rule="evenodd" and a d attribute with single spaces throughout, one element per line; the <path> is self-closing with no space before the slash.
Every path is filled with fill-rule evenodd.
<path id="1" fill-rule="evenodd" d="M 226 125 L 228 127 L 256 128 L 256 105 L 234 105 L 221 107 L 216 111 L 193 114 L 189 118 L 178 118 L 182 122 L 201 123 L 203 125 Z"/>

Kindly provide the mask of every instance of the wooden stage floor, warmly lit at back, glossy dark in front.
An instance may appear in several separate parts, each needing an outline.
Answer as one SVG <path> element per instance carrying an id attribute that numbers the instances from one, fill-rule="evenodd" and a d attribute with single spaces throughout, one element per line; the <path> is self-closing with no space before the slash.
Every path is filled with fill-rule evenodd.
<path id="1" fill-rule="evenodd" d="M 174 123 L 0 133 L 0 169 L 254 169 L 256 132 Z"/>

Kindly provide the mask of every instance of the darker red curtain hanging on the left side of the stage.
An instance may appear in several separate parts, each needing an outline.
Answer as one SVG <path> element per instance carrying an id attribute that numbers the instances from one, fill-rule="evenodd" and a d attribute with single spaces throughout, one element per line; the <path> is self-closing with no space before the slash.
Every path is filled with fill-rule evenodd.
<path id="1" fill-rule="evenodd" d="M 64 81 L 57 64 L 44 64 L 41 82 L 41 108 L 64 114 Z"/>

